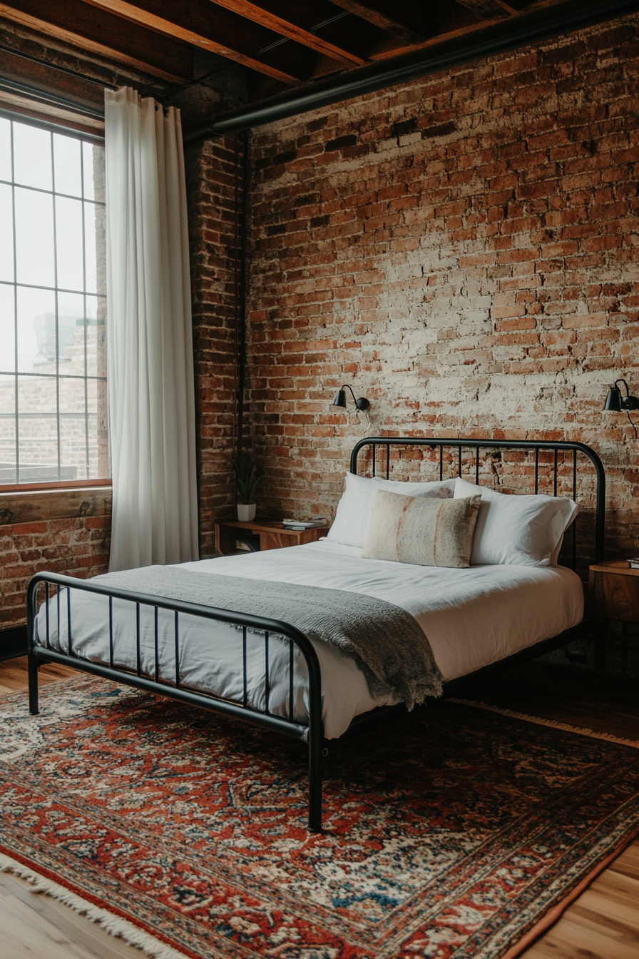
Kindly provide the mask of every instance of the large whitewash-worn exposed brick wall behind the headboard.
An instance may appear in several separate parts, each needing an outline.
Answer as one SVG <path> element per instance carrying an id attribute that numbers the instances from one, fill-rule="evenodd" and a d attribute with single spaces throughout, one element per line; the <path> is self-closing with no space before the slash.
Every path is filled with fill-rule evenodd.
<path id="1" fill-rule="evenodd" d="M 331 513 L 365 434 L 579 439 L 636 551 L 639 442 L 602 407 L 639 393 L 638 55 L 634 15 L 255 131 L 269 510 Z"/>

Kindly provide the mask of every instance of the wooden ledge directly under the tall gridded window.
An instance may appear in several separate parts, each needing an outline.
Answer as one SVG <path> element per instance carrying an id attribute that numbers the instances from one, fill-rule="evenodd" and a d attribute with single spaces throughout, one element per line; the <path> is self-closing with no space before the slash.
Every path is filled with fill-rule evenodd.
<path id="1" fill-rule="evenodd" d="M 0 486 L 0 526 L 105 516 L 110 512 L 110 479 Z"/>

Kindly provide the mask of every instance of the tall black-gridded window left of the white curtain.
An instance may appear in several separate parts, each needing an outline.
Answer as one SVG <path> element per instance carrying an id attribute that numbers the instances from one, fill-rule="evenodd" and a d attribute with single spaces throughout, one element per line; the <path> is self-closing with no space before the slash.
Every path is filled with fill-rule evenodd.
<path id="1" fill-rule="evenodd" d="M 0 484 L 108 476 L 103 167 L 0 117 Z"/>

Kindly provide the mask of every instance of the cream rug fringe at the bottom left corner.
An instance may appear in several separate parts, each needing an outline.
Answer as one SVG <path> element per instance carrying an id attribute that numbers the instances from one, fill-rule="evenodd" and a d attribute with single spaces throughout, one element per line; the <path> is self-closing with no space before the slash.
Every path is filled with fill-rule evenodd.
<path id="1" fill-rule="evenodd" d="M 44 893 L 51 896 L 52 899 L 63 902 L 74 912 L 85 916 L 92 923 L 101 925 L 103 929 L 112 936 L 118 936 L 124 939 L 131 946 L 137 946 L 146 952 L 152 959 L 185 959 L 185 952 L 178 952 L 171 946 L 161 943 L 148 932 L 140 929 L 137 925 L 129 923 L 126 919 L 114 916 L 101 906 L 94 905 L 92 902 L 83 900 L 76 893 L 61 886 L 53 879 L 47 879 L 40 876 L 28 866 L 23 866 L 21 862 L 11 859 L 10 856 L 0 853 L 0 873 L 13 873 L 34 886 L 34 893 Z"/>

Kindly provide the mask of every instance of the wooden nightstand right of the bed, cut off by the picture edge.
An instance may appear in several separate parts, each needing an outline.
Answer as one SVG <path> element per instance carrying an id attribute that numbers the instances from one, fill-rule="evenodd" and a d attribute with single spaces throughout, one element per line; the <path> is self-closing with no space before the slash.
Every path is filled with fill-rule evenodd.
<path id="1" fill-rule="evenodd" d="M 628 667 L 628 623 L 639 622 L 639 570 L 625 559 L 590 567 L 589 602 L 597 623 L 595 668 L 600 683 L 605 675 L 605 641 L 610 620 L 623 623 L 622 669 Z"/>

